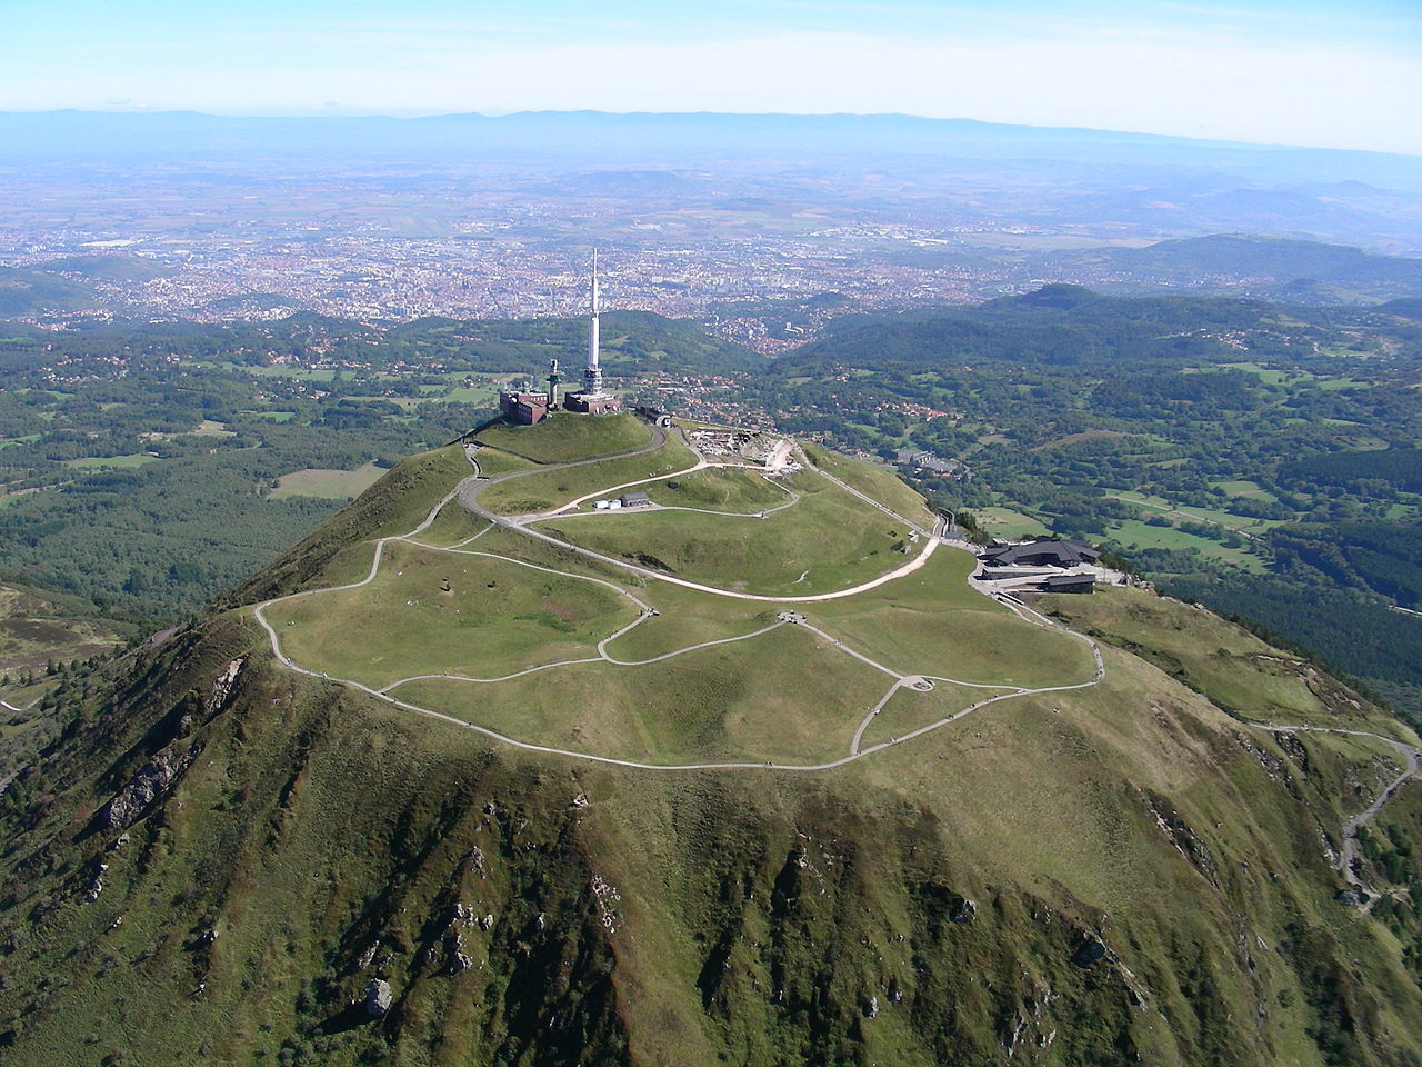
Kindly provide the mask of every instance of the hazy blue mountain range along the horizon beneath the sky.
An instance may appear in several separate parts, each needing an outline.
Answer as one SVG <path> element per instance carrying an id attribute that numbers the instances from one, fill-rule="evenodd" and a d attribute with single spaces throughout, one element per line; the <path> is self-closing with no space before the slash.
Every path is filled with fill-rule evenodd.
<path id="1" fill-rule="evenodd" d="M 191 111 L 0 112 L 0 155 L 328 154 L 488 159 L 896 155 L 1224 169 L 1261 179 L 1422 189 L 1422 156 L 1196 141 L 914 115 L 525 111 L 510 115 L 230 118 Z"/>

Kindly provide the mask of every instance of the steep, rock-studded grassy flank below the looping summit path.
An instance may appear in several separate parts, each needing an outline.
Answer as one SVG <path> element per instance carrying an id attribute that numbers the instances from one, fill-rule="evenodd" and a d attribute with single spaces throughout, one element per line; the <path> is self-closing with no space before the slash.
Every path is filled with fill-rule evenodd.
<path id="1" fill-rule="evenodd" d="M 377 487 L 328 536 L 390 532 L 438 498 L 439 462 L 385 484 L 404 502 Z M 320 580 L 310 561 L 341 551 L 304 542 L 264 580 Z M 1140 642 L 1185 662 L 1197 613 L 1159 610 Z M 1320 849 L 1357 802 L 1358 754 L 1281 747 L 1106 656 L 1101 687 L 1007 701 L 835 774 L 671 775 L 491 747 L 296 677 L 245 615 L 216 616 L 71 693 L 64 741 L 0 797 L 6 1063 L 1422 1054 L 1398 945 L 1331 899 Z M 754 663 L 734 669 L 752 689 Z M 1212 669 L 1219 684 L 1253 670 Z M 91 814 L 178 734 L 201 758 L 109 849 Z M 971 922 L 951 922 L 964 898 Z M 456 903 L 491 916 L 454 928 L 462 973 Z M 1121 963 L 1072 965 L 1088 932 Z M 348 1009 L 373 975 L 395 992 L 381 1021 Z"/>

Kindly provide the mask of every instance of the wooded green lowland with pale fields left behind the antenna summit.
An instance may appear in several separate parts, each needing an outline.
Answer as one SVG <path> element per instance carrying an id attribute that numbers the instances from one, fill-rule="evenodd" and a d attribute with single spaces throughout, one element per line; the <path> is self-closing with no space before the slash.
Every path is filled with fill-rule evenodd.
<path id="1" fill-rule="evenodd" d="M 465 432 L 586 323 L 293 316 L 0 337 L 3 568 L 168 622 L 226 592 L 402 457 Z M 690 323 L 604 317 L 613 380 L 744 368 Z"/>

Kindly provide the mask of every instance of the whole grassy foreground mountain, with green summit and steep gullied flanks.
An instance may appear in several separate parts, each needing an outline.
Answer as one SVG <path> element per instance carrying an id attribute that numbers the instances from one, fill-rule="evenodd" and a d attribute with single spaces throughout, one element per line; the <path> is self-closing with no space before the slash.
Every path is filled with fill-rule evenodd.
<path id="1" fill-rule="evenodd" d="M 815 573 L 823 535 L 806 585 L 838 599 L 778 626 L 772 596 L 698 592 L 715 561 L 661 519 L 638 572 L 582 546 L 599 516 L 483 518 L 458 447 L 405 461 L 222 610 L 60 691 L 63 736 L 0 795 L 6 1064 L 1422 1061 L 1416 861 L 1364 831 L 1337 866 L 1402 771 L 1379 738 L 1416 738 L 1342 686 L 1126 589 L 1057 606 L 1101 642 L 1092 680 L 1086 643 L 967 590 L 967 553 L 907 543 L 912 495 L 832 455 L 778 515 L 754 472 L 675 474 L 670 437 L 576 469 L 474 458 L 557 504 L 654 479 L 648 519 L 668 492 L 694 522 L 894 514 Z M 869 573 L 894 576 L 840 592 Z M 813 676 L 934 642 L 974 680 L 879 667 L 883 716 L 842 736 L 860 676 Z M 535 662 L 563 644 L 580 666 Z M 435 653 L 476 697 L 452 659 L 417 670 Z M 501 656 L 522 694 L 472 684 Z M 395 657 L 425 681 L 387 686 Z M 1422 790 L 1384 812 L 1415 839 Z M 1359 879 L 1372 912 L 1335 899 Z"/>

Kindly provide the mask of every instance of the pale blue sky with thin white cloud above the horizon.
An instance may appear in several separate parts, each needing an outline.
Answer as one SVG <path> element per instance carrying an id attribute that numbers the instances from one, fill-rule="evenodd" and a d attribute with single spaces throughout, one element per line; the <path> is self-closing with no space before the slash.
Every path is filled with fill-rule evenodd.
<path id="1" fill-rule="evenodd" d="M 0 110 L 904 112 L 1422 155 L 1422 0 L 0 0 Z"/>

